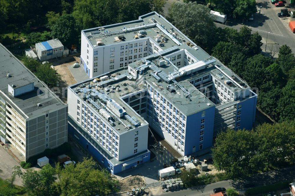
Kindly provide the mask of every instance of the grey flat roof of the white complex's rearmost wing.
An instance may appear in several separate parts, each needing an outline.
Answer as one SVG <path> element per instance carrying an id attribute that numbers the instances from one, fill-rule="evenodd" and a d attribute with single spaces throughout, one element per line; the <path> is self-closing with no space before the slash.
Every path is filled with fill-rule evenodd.
<path id="1" fill-rule="evenodd" d="M 102 28 L 103 30 L 101 30 Z M 82 30 L 82 32 L 86 35 L 87 39 L 94 48 L 104 47 L 105 45 L 109 44 L 122 44 L 124 43 L 124 41 L 131 41 L 134 39 L 134 36 L 137 35 L 138 31 L 145 31 L 146 33 L 145 36 L 138 39 L 145 39 L 149 37 L 153 41 L 155 41 L 155 36 L 163 34 L 166 38 L 168 38 L 168 41 L 164 43 L 164 46 L 161 46 L 162 49 L 177 46 L 179 45 L 178 43 L 186 44 L 189 42 L 194 44 L 181 31 L 176 29 L 163 16 L 159 15 L 156 12 L 150 12 L 148 14 L 140 16 L 138 20 L 134 21 Z M 116 41 L 118 40 L 117 38 L 120 35 L 123 35 L 125 37 L 124 41 Z M 172 39 L 172 36 L 174 36 L 175 39 Z M 101 41 L 103 44 L 98 46 L 98 40 Z M 160 43 L 157 44 L 159 45 Z"/>

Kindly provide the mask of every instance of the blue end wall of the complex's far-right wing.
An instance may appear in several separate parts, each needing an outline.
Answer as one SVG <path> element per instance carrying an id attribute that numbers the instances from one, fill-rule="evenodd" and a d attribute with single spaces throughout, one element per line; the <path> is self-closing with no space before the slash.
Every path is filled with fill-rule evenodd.
<path id="1" fill-rule="evenodd" d="M 256 103 L 257 96 L 253 96 L 237 104 L 236 129 L 252 129 L 253 122 L 255 121 Z M 241 105 L 240 109 L 239 105 Z M 240 117 L 240 121 L 237 121 L 238 117 Z M 240 123 L 240 127 L 237 127 L 237 123 Z"/>

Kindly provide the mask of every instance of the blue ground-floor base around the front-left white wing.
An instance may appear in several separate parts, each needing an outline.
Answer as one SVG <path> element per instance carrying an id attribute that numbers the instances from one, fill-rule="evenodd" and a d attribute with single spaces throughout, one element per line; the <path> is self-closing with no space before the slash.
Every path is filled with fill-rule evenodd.
<path id="1" fill-rule="evenodd" d="M 70 118 L 70 117 L 69 117 Z M 75 135 L 74 135 L 75 133 Z M 140 157 L 135 158 L 134 160 L 126 160 L 125 162 L 122 161 L 118 165 L 113 164 L 110 160 L 108 160 L 104 155 L 102 155 L 96 147 L 94 147 L 89 140 L 87 140 L 82 134 L 80 134 L 76 128 L 71 126 L 70 123 L 68 123 L 68 134 L 75 139 L 76 142 L 78 142 L 82 147 L 87 149 L 89 153 L 101 163 L 104 167 L 109 170 L 112 174 L 116 174 L 119 172 L 122 172 L 123 170 L 130 169 L 134 165 L 142 164 L 144 162 L 148 162 L 150 160 L 150 151 L 146 152 L 145 154 L 141 155 Z M 76 137 L 78 135 L 78 137 Z M 143 158 L 144 157 L 144 158 Z M 137 162 L 138 159 L 141 159 L 139 163 Z M 123 164 L 128 164 L 126 167 L 123 167 Z M 113 168 L 113 170 L 111 170 Z"/>

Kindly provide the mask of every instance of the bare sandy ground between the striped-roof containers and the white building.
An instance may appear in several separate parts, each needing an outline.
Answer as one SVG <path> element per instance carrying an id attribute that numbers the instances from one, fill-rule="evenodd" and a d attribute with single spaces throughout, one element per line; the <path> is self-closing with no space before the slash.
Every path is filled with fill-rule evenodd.
<path id="1" fill-rule="evenodd" d="M 70 70 L 68 69 L 68 66 L 73 65 L 76 62 L 80 62 L 80 55 L 76 55 L 73 57 L 62 57 L 58 59 L 50 59 L 48 60 L 52 65 L 54 66 L 54 69 L 61 75 L 61 78 L 63 82 L 59 84 L 60 94 L 56 93 L 63 102 L 67 103 L 67 93 L 66 91 L 63 91 L 64 88 L 67 88 L 68 86 L 72 84 L 76 84 L 77 81 L 71 74 Z"/>

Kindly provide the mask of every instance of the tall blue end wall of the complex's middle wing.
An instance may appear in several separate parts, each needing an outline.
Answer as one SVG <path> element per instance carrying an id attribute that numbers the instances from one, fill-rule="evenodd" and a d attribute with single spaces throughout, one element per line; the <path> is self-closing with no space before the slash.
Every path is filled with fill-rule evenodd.
<path id="1" fill-rule="evenodd" d="M 205 115 L 202 117 L 203 111 L 205 111 Z M 212 146 L 214 115 L 215 107 L 213 106 L 187 117 L 184 155 L 200 150 L 200 144 L 202 144 L 202 149 Z M 204 123 L 202 123 L 202 119 L 204 119 Z M 202 125 L 204 125 L 204 129 L 201 129 Z M 201 135 L 201 131 L 204 132 L 203 135 Z M 203 141 L 200 142 L 201 137 L 203 137 Z"/>

